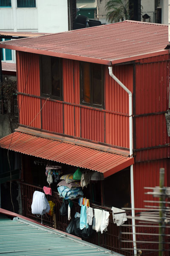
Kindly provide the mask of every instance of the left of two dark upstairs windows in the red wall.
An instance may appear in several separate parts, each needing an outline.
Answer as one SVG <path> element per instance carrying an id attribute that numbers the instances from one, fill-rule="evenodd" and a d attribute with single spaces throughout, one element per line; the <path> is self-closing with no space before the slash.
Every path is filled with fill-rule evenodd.
<path id="1" fill-rule="evenodd" d="M 41 56 L 41 95 L 62 100 L 61 58 Z"/>

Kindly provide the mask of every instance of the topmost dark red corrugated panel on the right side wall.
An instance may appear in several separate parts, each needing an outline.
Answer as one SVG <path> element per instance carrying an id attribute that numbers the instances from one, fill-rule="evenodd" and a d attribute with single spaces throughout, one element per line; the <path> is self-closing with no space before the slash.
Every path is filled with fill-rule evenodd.
<path id="1" fill-rule="evenodd" d="M 136 115 L 168 109 L 170 62 L 158 62 L 161 59 L 158 56 L 151 59 L 152 63 L 136 65 Z"/>

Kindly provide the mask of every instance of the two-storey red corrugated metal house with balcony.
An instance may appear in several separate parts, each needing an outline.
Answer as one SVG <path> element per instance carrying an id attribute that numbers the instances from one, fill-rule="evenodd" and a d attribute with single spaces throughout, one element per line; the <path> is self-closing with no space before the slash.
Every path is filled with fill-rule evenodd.
<path id="1" fill-rule="evenodd" d="M 16 152 L 21 158 L 18 208 L 24 216 L 41 221 L 31 214 L 31 200 L 34 190 L 47 185 L 47 163 L 62 166 L 65 174 L 77 167 L 102 173 L 105 179 L 91 181 L 83 192 L 91 207 L 110 211 L 112 206 L 143 208 L 148 200 L 144 187 L 159 186 L 160 167 L 165 169 L 165 186 L 170 186 L 170 138 L 164 115 L 169 109 L 168 43 L 168 26 L 124 21 L 0 44 L 17 52 L 19 127 L 0 140 L 0 147 L 4 155 Z M 132 113 L 130 97 L 109 75 L 109 66 L 132 92 Z M 56 184 L 51 188 L 57 229 L 64 231 L 68 219 L 59 215 L 62 198 Z M 71 211 L 79 210 L 75 202 Z M 108 232 L 96 233 L 88 241 L 133 254 L 121 249 L 128 245 L 120 244 L 119 227 L 110 217 Z M 53 219 L 45 221 L 52 226 Z M 124 240 L 132 240 L 131 227 L 124 231 L 130 232 Z M 150 249 L 145 242 L 140 246 Z"/>

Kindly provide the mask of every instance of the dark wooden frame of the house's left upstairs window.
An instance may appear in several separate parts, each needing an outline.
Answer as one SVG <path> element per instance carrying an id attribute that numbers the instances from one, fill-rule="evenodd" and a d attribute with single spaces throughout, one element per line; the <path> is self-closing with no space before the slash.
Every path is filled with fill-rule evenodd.
<path id="1" fill-rule="evenodd" d="M 42 92 L 42 79 L 43 79 L 43 74 L 42 74 L 42 57 L 43 56 L 44 55 L 40 55 L 40 94 L 41 94 L 42 97 L 45 97 L 45 98 L 49 97 L 49 98 L 52 98 L 52 99 L 55 99 L 55 100 L 63 101 L 63 96 L 62 96 L 62 91 L 63 91 L 63 89 L 62 89 L 62 87 L 63 87 L 62 58 L 45 55 L 48 58 L 50 58 L 50 60 L 51 60 L 51 58 L 59 59 L 59 64 L 60 64 L 59 65 L 60 66 L 60 78 L 59 78 L 59 80 L 60 80 L 60 97 L 57 97 L 55 95 L 52 95 L 52 81 L 51 81 L 51 72 L 52 71 L 50 72 L 50 77 L 49 77 L 50 94 L 48 95 L 48 94 L 45 94 L 45 93 Z M 50 61 L 50 63 L 51 63 L 51 61 Z M 50 70 L 51 70 L 51 67 L 50 67 Z"/>

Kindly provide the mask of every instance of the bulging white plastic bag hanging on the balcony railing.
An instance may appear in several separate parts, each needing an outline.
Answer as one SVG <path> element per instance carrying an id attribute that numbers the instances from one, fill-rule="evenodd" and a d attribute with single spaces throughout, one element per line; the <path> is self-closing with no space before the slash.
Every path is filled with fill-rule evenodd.
<path id="1" fill-rule="evenodd" d="M 45 194 L 40 191 L 35 191 L 32 198 L 31 212 L 32 214 L 43 215 L 50 211 L 50 205 L 45 197 Z"/>

